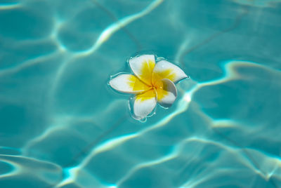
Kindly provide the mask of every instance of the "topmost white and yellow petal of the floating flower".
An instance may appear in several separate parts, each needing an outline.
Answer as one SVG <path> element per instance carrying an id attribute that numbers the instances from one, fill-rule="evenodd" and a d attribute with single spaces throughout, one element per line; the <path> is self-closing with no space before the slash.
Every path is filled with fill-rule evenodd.
<path id="1" fill-rule="evenodd" d="M 141 81 L 151 86 L 152 71 L 155 67 L 154 55 L 141 55 L 136 58 L 131 58 L 131 60 L 129 60 L 129 65 L 133 74 L 135 74 L 138 79 L 141 79 Z"/>

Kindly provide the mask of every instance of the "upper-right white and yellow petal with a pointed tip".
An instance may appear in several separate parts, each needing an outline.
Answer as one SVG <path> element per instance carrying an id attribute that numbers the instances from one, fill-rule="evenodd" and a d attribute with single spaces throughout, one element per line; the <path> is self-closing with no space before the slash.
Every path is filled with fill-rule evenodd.
<path id="1" fill-rule="evenodd" d="M 171 62 L 167 62 L 166 60 L 157 62 L 152 73 L 152 83 L 162 79 L 169 79 L 174 81 L 174 83 L 177 83 L 178 81 L 186 78 L 188 78 L 188 76 L 180 67 L 172 64 Z"/>

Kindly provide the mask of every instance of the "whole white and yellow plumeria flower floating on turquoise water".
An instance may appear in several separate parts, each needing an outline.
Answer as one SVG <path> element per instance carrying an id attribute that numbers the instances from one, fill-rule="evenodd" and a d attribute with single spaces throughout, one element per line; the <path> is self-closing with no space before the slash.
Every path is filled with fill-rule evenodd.
<path id="1" fill-rule="evenodd" d="M 146 119 L 157 102 L 162 107 L 171 107 L 177 97 L 175 83 L 188 76 L 182 69 L 155 55 L 141 55 L 129 60 L 133 74 L 118 74 L 109 84 L 122 93 L 136 94 L 133 98 L 133 118 Z"/>

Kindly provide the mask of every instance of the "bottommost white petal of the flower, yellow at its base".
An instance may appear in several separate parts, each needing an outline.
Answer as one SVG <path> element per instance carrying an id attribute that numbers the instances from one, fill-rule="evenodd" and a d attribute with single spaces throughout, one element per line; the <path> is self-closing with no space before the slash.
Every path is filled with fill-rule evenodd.
<path id="1" fill-rule="evenodd" d="M 136 95 L 133 103 L 133 114 L 136 116 L 136 119 L 145 119 L 155 109 L 156 104 L 156 93 L 153 89 Z"/>

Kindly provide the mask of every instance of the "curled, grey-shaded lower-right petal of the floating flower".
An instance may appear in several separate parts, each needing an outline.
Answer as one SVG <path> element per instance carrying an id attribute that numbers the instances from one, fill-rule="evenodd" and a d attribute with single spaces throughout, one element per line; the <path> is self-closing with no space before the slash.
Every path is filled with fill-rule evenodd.
<path id="1" fill-rule="evenodd" d="M 171 107 L 178 95 L 175 84 L 169 79 L 162 79 L 160 82 L 157 82 L 157 86 L 161 86 L 156 89 L 159 105 L 162 107 Z"/>

